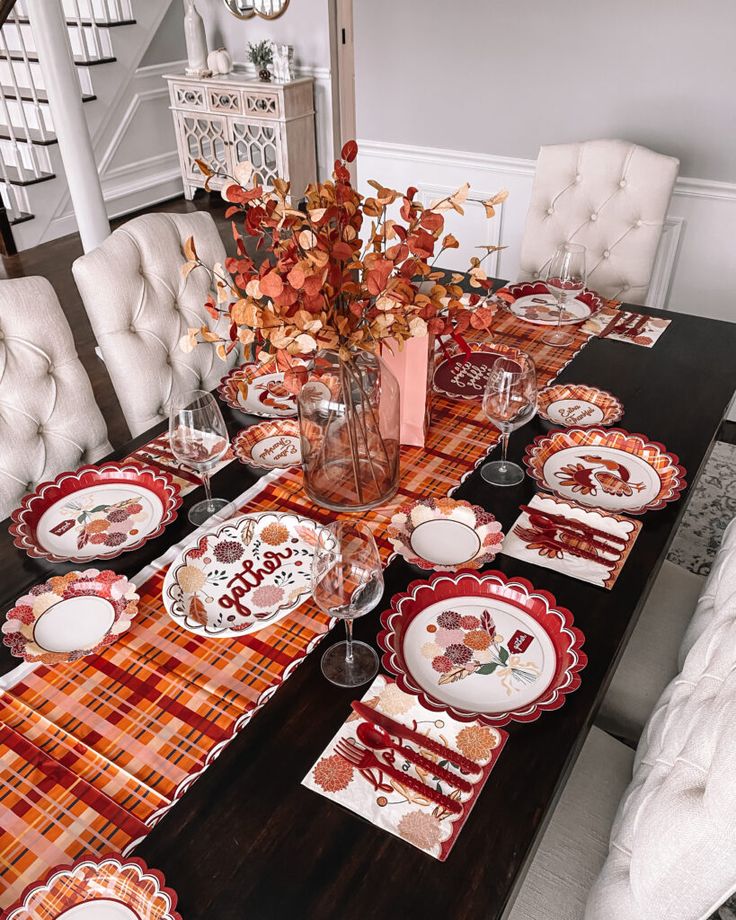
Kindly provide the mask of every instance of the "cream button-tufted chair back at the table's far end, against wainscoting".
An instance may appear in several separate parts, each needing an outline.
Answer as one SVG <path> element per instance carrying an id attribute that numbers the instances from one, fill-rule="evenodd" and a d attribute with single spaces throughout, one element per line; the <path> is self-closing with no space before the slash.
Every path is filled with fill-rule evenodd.
<path id="1" fill-rule="evenodd" d="M 587 248 L 591 288 L 644 303 L 679 165 L 626 141 L 542 147 L 520 279 L 544 278 L 557 247 L 573 240 Z"/>

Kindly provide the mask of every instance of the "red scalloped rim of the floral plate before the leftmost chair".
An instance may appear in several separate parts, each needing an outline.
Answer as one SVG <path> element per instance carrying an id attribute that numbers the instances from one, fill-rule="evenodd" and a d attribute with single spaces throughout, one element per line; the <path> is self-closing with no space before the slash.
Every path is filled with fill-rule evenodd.
<path id="1" fill-rule="evenodd" d="M 85 473 L 96 473 L 100 470 L 105 470 L 110 467 L 120 471 L 121 473 L 125 470 L 134 470 L 136 473 L 138 473 L 139 476 L 143 475 L 143 477 L 147 478 L 149 481 L 152 480 L 153 482 L 161 484 L 161 491 L 168 495 L 168 499 L 164 501 L 164 497 L 159 495 L 161 498 L 161 503 L 165 505 L 165 507 L 163 517 L 161 518 L 156 530 L 152 530 L 150 533 L 146 534 L 144 537 L 141 537 L 141 539 L 135 543 L 129 543 L 126 546 L 122 546 L 115 553 L 110 553 L 109 555 L 105 554 L 99 558 L 80 559 L 78 556 L 60 557 L 55 556 L 53 553 L 42 550 L 33 539 L 33 533 L 35 533 L 35 530 L 32 532 L 31 526 L 35 527 L 35 522 L 33 525 L 29 525 L 29 522 L 26 520 L 28 515 L 33 512 L 33 505 L 39 500 L 46 499 L 46 495 L 44 494 L 45 492 L 48 492 L 52 489 L 61 489 L 61 484 L 65 480 L 70 483 L 74 482 L 75 480 L 78 482 Z M 121 478 L 129 479 L 130 477 L 122 476 Z M 151 491 L 154 490 L 152 489 Z M 57 498 L 62 497 L 63 494 L 65 493 L 60 493 L 58 496 L 56 496 L 56 498 L 52 500 L 56 501 Z M 181 507 L 181 503 L 182 498 L 179 486 L 176 485 L 172 476 L 163 470 L 154 470 L 145 464 L 138 463 L 137 461 L 126 462 L 123 460 L 120 463 L 115 463 L 114 461 L 99 464 L 90 463 L 86 466 L 80 466 L 77 470 L 74 471 L 59 473 L 56 479 L 49 479 L 46 482 L 41 482 L 38 484 L 38 486 L 36 486 L 33 492 L 29 492 L 27 495 L 24 495 L 20 507 L 16 508 L 15 511 L 13 511 L 10 515 L 10 520 L 12 523 L 8 527 L 8 532 L 13 537 L 13 546 L 24 550 L 34 559 L 48 559 L 50 562 L 74 562 L 79 564 L 86 562 L 107 562 L 110 559 L 115 559 L 117 556 L 121 556 L 123 553 L 128 553 L 131 550 L 138 549 L 149 540 L 153 540 L 156 537 L 159 537 L 164 532 L 166 527 L 168 527 L 172 521 L 176 520 L 178 510 Z"/>

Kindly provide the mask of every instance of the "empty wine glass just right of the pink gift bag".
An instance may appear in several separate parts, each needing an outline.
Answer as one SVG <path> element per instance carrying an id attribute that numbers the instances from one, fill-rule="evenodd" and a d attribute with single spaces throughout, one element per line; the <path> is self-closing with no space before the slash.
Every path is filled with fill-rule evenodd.
<path id="1" fill-rule="evenodd" d="M 496 358 L 486 381 L 483 411 L 501 431 L 501 459 L 484 464 L 480 475 L 493 486 L 518 485 L 524 470 L 508 461 L 506 452 L 511 432 L 526 425 L 537 411 L 537 375 L 529 355 L 514 349 Z"/>

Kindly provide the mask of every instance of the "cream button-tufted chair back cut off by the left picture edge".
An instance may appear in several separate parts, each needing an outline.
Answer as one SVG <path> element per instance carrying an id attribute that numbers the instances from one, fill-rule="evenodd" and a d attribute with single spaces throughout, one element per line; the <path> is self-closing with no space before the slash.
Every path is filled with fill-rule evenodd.
<path id="1" fill-rule="evenodd" d="M 110 450 L 54 289 L 0 281 L 0 519 L 39 482 Z"/>

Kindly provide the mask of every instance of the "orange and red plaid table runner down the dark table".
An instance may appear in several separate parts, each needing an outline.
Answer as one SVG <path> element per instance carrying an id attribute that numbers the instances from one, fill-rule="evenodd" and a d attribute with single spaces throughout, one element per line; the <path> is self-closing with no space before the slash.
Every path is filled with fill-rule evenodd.
<path id="1" fill-rule="evenodd" d="M 572 346 L 550 348 L 540 341 L 543 327 L 503 312 L 490 338 L 529 352 L 542 386 L 599 329 L 578 328 Z M 426 446 L 402 448 L 398 495 L 362 515 L 374 525 L 384 560 L 397 506 L 447 495 L 498 439 L 478 403 L 435 397 Z M 165 447 L 159 440 L 157 449 Z M 264 477 L 233 508 L 335 517 L 309 501 L 297 469 Z M 0 907 L 56 865 L 127 855 L 330 628 L 307 601 L 242 639 L 192 636 L 161 600 L 178 549 L 136 578 L 140 612 L 114 645 L 71 664 L 37 667 L 0 693 Z"/>

